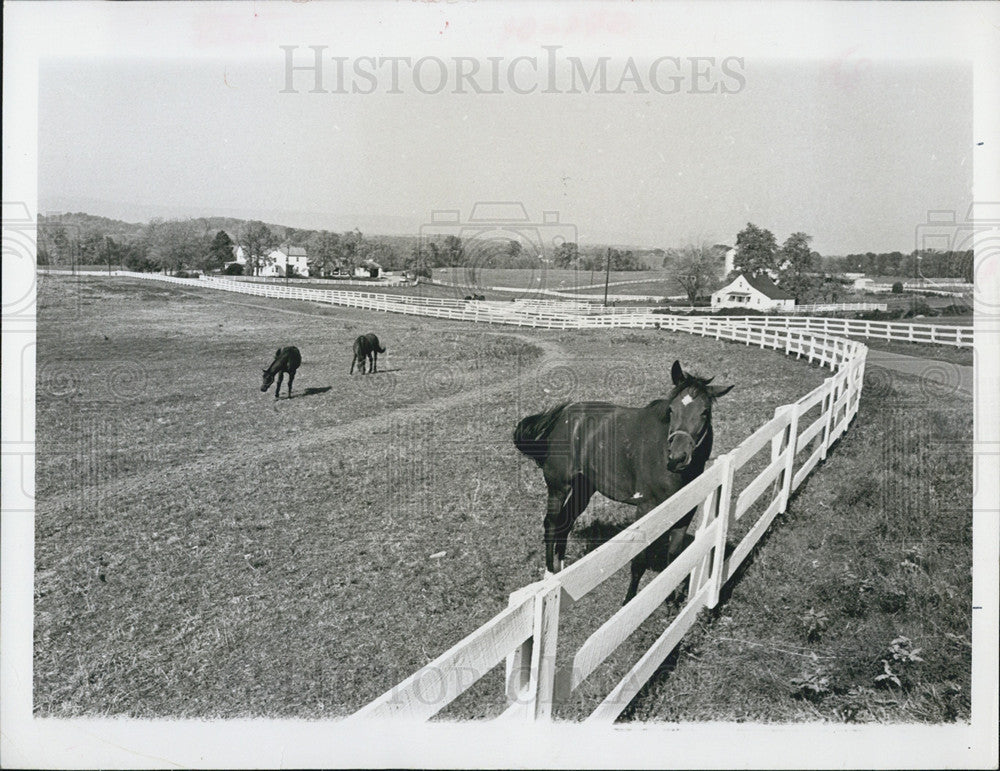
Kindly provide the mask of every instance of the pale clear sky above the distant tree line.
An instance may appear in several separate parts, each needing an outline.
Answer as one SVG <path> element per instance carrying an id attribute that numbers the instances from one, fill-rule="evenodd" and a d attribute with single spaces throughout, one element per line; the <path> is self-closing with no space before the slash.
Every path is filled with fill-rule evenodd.
<path id="1" fill-rule="evenodd" d="M 292 55 L 312 61 L 304 46 Z M 728 75 L 702 65 L 695 81 L 682 60 L 673 94 L 651 88 L 648 59 L 636 64 L 646 93 L 566 93 L 560 80 L 563 93 L 456 94 L 449 70 L 432 94 L 431 62 L 421 88 L 402 77 L 391 93 L 383 66 L 373 93 L 341 94 L 332 61 L 327 93 L 297 71 L 296 93 L 281 93 L 285 57 L 43 61 L 40 211 L 397 234 L 435 210 L 465 220 L 478 201 L 518 201 L 535 223 L 559 212 L 581 243 L 733 244 L 753 222 L 779 243 L 801 231 L 821 254 L 846 254 L 911 251 L 928 211 L 960 218 L 971 201 L 972 72 L 960 63 L 743 58 Z M 612 82 L 624 62 L 611 57 Z M 354 65 L 344 90 L 370 85 Z M 518 72 L 524 90 L 531 72 Z"/>

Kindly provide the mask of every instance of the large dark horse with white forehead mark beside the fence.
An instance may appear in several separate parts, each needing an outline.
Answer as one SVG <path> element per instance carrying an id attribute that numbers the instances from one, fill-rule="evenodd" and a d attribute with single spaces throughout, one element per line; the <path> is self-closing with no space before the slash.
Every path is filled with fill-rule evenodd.
<path id="1" fill-rule="evenodd" d="M 709 385 L 681 369 L 674 387 L 645 407 L 572 402 L 530 415 L 514 429 L 514 446 L 534 460 L 548 487 L 545 567 L 562 569 L 566 538 L 594 491 L 635 506 L 642 517 L 705 468 L 712 452 L 712 403 L 732 386 Z M 648 567 L 662 570 L 681 551 L 696 509 L 632 560 L 631 600 Z"/>

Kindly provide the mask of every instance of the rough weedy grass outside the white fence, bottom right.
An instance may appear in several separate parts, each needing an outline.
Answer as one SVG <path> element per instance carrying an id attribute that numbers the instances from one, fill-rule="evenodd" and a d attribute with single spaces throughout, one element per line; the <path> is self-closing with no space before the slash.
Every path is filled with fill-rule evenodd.
<path id="1" fill-rule="evenodd" d="M 893 374 L 633 720 L 970 718 L 972 404 Z M 669 674 L 666 674 L 669 673 Z"/>

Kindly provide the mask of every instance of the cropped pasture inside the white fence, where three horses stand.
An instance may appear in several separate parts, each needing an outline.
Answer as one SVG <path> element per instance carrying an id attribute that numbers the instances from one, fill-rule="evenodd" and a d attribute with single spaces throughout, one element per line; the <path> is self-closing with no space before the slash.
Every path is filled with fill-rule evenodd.
<path id="1" fill-rule="evenodd" d="M 725 452 L 827 374 L 681 334 L 514 332 L 126 279 L 42 278 L 38 329 L 34 664 L 45 716 L 349 714 L 539 577 L 544 484 L 510 442 L 524 414 L 567 399 L 644 404 L 668 390 L 680 358 L 737 384 L 715 416 Z M 349 377 L 350 343 L 369 330 L 388 347 L 382 371 Z M 258 390 L 260 368 L 288 343 L 304 361 L 295 398 L 275 403 Z M 870 441 L 859 452 L 859 463 L 882 462 Z M 816 514 L 836 524 L 846 506 Z M 631 512 L 595 501 L 570 559 Z M 883 527 L 887 540 L 888 517 Z M 962 548 L 949 553 L 956 571 Z M 581 603 L 560 645 L 579 645 L 625 585 L 617 576 Z M 964 618 L 963 584 L 953 588 L 938 606 L 948 629 Z M 623 672 L 658 622 L 595 677 Z M 960 683 L 961 664 L 942 669 Z M 494 671 L 444 716 L 499 713 L 500 680 Z M 665 717 L 641 706 L 649 698 L 636 716 Z"/>

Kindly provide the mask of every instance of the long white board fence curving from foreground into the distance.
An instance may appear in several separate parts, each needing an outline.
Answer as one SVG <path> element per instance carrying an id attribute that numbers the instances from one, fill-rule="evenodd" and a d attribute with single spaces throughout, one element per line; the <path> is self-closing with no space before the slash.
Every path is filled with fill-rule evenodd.
<path id="1" fill-rule="evenodd" d="M 211 286 L 268 297 L 332 302 L 412 315 L 556 329 L 629 327 L 670 329 L 758 345 L 805 357 L 831 370 L 824 382 L 795 402 L 778 407 L 774 417 L 715 462 L 695 480 L 607 543 L 560 573 L 510 596 L 508 607 L 489 622 L 356 713 L 357 718 L 408 717 L 426 720 L 451 703 L 501 661 L 505 662 L 505 718 L 544 720 L 554 705 L 568 699 L 590 674 L 676 588 L 687 582 L 687 599 L 660 637 L 605 696 L 588 721 L 614 720 L 676 647 L 703 608 L 719 602 L 723 586 L 751 553 L 791 494 L 826 457 L 831 445 L 857 414 L 867 347 L 840 337 L 883 330 L 885 322 L 849 322 L 795 317 L 679 317 L 654 314 L 583 315 L 517 303 L 433 301 L 374 293 L 333 292 L 303 287 L 191 280 L 128 274 L 170 283 Z M 959 327 L 901 325 L 907 339 L 930 335 L 936 342 L 971 344 L 971 330 Z M 919 334 L 918 334 L 919 333 Z M 967 337 L 966 337 L 967 335 Z M 763 458 L 760 458 L 763 454 Z M 737 489 L 736 473 L 749 463 L 764 466 Z M 558 646 L 560 624 L 573 606 L 619 568 L 696 510 L 694 541 L 625 607 L 604 620 L 575 651 Z M 762 511 L 757 511 L 762 509 Z M 733 523 L 754 514 L 747 533 L 727 554 Z M 565 646 L 564 646 L 565 647 Z"/>

